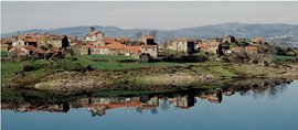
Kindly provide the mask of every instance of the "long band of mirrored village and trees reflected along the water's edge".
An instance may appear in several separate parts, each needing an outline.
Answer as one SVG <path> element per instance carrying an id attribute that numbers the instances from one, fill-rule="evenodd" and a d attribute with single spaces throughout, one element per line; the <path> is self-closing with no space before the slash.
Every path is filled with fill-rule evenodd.
<path id="1" fill-rule="evenodd" d="M 180 90 L 164 94 L 138 95 L 126 97 L 81 97 L 67 101 L 61 100 L 39 100 L 23 97 L 19 101 L 2 100 L 1 109 L 10 109 L 15 112 L 49 111 L 67 112 L 70 108 L 84 108 L 91 111 L 93 117 L 104 116 L 107 110 L 119 108 L 134 108 L 138 112 L 145 110 L 152 115 L 158 113 L 157 107 L 168 110 L 170 106 L 179 109 L 189 109 L 199 100 L 207 100 L 211 104 L 221 104 L 224 96 L 233 96 L 238 93 L 241 96 L 253 95 L 255 98 L 267 94 L 275 98 L 276 94 L 283 93 L 289 82 L 286 83 L 264 83 L 258 85 L 228 86 L 220 88 L 196 88 L 191 90 Z"/>

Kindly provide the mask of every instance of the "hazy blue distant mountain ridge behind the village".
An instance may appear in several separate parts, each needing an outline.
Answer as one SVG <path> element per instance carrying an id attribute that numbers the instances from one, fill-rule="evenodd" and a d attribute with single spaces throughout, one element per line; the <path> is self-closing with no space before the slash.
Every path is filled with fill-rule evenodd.
<path id="1" fill-rule="evenodd" d="M 124 30 L 117 26 L 100 26 L 93 25 L 96 30 L 105 32 L 107 36 L 130 36 L 136 37 L 136 32 L 141 31 L 142 34 L 149 34 L 149 29 L 129 29 Z M 26 30 L 20 31 L 21 34 L 28 32 L 35 33 L 51 33 L 51 34 L 66 34 L 77 35 L 83 37 L 89 31 L 89 26 L 74 26 L 74 28 L 61 28 L 51 30 Z M 10 37 L 17 35 L 18 32 L 1 34 L 2 37 Z M 286 43 L 291 46 L 298 46 L 298 25 L 290 24 L 245 24 L 245 23 L 223 23 L 213 24 L 178 30 L 163 31 L 160 30 L 157 36 L 158 42 L 162 42 L 172 37 L 195 37 L 207 39 L 225 35 L 234 35 L 236 37 L 254 39 L 255 36 L 262 36 L 266 40 L 277 41 Z"/>

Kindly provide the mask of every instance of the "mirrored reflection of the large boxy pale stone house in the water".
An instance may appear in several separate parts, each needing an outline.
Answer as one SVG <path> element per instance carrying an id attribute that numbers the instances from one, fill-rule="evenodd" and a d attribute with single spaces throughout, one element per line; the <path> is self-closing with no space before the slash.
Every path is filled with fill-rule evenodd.
<path id="1" fill-rule="evenodd" d="M 194 106 L 195 98 L 192 95 L 174 96 L 168 99 L 169 102 L 173 104 L 175 107 L 188 109 Z"/>

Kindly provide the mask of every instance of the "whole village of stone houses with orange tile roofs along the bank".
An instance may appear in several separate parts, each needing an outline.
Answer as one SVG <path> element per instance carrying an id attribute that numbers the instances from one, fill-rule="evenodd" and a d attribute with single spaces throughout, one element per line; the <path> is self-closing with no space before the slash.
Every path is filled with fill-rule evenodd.
<path id="1" fill-rule="evenodd" d="M 174 58 L 170 61 L 175 61 L 179 59 L 179 56 L 185 59 L 189 56 L 198 56 L 198 61 L 202 61 L 202 57 L 221 61 L 219 57 L 223 55 L 238 57 L 273 53 L 285 56 L 298 55 L 295 48 L 283 50 L 278 46 L 272 46 L 259 36 L 254 40 L 237 39 L 232 35 L 205 40 L 180 37 L 158 44 L 153 35 L 139 35 L 136 40 L 110 37 L 106 36 L 104 32 L 96 31 L 95 28 L 91 28 L 83 39 L 75 35 L 49 33 L 26 33 L 11 39 L 1 39 L 1 52 L 2 55 L 7 55 L 7 58 L 52 59 L 65 55 L 121 55 L 137 58 L 139 62 L 167 61 L 171 57 Z M 249 61 L 264 64 L 266 59 L 268 57 L 259 59 L 259 56 L 255 56 Z"/>

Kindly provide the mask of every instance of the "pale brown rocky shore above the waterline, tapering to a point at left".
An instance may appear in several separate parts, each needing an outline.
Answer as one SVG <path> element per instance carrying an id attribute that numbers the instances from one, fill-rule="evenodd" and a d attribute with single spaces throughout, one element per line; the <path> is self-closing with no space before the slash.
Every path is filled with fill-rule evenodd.
<path id="1" fill-rule="evenodd" d="M 121 72 L 62 72 L 34 89 L 58 95 L 76 95 L 100 90 L 173 90 L 191 87 L 221 87 L 241 85 L 238 80 L 257 79 L 267 83 L 291 80 L 298 77 L 297 66 L 257 66 L 233 64 L 227 66 L 156 67 Z M 61 77 L 61 78 L 58 78 Z M 253 83 L 254 84 L 254 83 Z"/>

